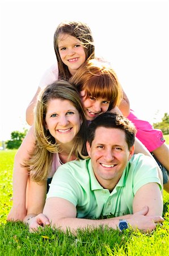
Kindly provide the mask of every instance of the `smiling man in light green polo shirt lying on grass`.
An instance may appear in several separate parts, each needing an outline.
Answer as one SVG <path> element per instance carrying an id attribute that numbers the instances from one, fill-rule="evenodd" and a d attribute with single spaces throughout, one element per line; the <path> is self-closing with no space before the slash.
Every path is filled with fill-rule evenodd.
<path id="1" fill-rule="evenodd" d="M 133 124 L 121 115 L 104 113 L 91 122 L 87 134 L 90 159 L 58 168 L 44 215 L 35 217 L 37 223 L 51 222 L 72 232 L 99 225 L 120 230 L 130 225 L 145 232 L 155 229 L 163 222 L 162 184 L 154 160 L 133 155 Z"/>

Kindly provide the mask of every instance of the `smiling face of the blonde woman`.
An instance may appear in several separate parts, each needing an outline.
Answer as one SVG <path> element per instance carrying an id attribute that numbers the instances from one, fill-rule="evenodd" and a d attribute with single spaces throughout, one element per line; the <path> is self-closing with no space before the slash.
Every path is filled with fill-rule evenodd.
<path id="1" fill-rule="evenodd" d="M 52 99 L 48 102 L 46 128 L 57 143 L 69 143 L 81 127 L 78 110 L 69 100 Z"/>

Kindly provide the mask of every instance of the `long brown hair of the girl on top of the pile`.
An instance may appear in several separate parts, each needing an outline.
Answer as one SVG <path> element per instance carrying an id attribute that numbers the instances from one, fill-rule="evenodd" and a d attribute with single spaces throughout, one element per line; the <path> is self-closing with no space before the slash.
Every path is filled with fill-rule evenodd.
<path id="1" fill-rule="evenodd" d="M 58 37 L 60 34 L 67 34 L 74 36 L 75 38 L 81 41 L 82 46 L 84 47 L 84 52 L 86 53 L 86 60 L 92 59 L 95 57 L 95 47 L 94 40 L 92 38 L 91 30 L 86 23 L 67 21 L 62 22 L 56 28 L 54 32 L 54 51 L 56 53 L 57 62 L 58 62 L 58 71 L 60 79 L 69 80 L 71 74 L 67 66 L 62 62 L 60 53 L 58 51 Z"/>

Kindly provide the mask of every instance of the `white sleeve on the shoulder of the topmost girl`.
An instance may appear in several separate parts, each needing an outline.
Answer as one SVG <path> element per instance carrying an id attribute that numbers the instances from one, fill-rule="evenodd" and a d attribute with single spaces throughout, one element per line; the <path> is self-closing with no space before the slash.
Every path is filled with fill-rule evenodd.
<path id="1" fill-rule="evenodd" d="M 43 77 L 40 80 L 39 87 L 43 88 L 52 82 L 58 80 L 58 65 L 53 64 L 47 71 L 44 73 Z"/>

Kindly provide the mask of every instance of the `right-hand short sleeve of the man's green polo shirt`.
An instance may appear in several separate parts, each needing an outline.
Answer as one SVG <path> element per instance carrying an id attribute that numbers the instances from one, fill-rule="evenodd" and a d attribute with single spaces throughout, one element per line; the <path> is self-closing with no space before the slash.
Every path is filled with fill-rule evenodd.
<path id="1" fill-rule="evenodd" d="M 133 162 L 131 162 L 131 167 L 134 168 L 132 179 L 134 195 L 138 189 L 147 183 L 158 183 L 160 190 L 162 189 L 157 165 L 150 156 L 139 154 L 139 156 L 136 156 Z"/>

